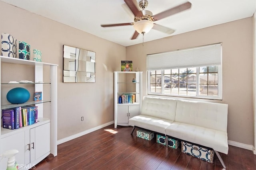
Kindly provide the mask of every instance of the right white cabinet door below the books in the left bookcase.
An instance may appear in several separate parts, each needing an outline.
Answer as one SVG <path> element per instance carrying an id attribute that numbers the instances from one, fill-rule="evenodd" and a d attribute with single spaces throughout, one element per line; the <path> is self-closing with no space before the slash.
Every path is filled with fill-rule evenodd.
<path id="1" fill-rule="evenodd" d="M 35 127 L 35 151 L 36 159 L 40 156 L 50 152 L 51 150 L 51 124 Z"/>

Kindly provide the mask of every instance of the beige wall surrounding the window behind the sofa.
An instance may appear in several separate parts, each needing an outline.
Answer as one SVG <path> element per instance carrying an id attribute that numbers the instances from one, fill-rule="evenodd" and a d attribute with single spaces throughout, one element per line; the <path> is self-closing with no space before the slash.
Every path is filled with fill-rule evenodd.
<path id="1" fill-rule="evenodd" d="M 138 38 L 142 39 L 142 36 Z M 126 47 L 126 59 L 133 61 L 134 68 L 139 67 L 143 71 L 145 96 L 147 54 L 219 42 L 223 45 L 221 103 L 228 104 L 228 140 L 253 145 L 252 18 L 150 41 L 144 46 Z"/>

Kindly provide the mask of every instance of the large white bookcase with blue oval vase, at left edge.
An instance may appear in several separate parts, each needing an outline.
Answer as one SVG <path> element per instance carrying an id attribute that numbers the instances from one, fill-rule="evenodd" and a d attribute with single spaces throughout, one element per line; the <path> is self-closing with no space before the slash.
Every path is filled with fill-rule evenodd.
<path id="1" fill-rule="evenodd" d="M 10 109 L 20 106 L 37 106 L 38 122 L 32 125 L 20 127 L 18 129 L 5 129 L 0 121 L 0 154 L 10 149 L 17 149 L 16 161 L 23 165 L 22 169 L 29 169 L 35 164 L 46 158 L 49 154 L 57 156 L 57 64 L 41 63 L 11 57 L 0 56 L 0 66 L 12 68 L 17 65 L 21 70 L 13 69 L 8 72 L 0 69 L 0 104 L 1 109 Z M 15 64 L 15 65 L 14 65 Z M 34 74 L 26 72 L 26 66 L 30 69 L 34 68 Z M 25 67 L 25 68 L 24 68 Z M 43 75 L 44 69 L 47 75 Z M 9 78 L 18 80 L 19 74 L 25 75 L 27 80 L 34 78 L 33 82 L 8 83 Z M 33 76 L 33 77 L 31 77 Z M 50 82 L 44 82 L 44 77 L 50 79 Z M 25 79 L 26 80 L 26 79 Z M 44 84 L 48 84 L 44 86 Z M 6 86 L 7 85 L 7 86 Z M 34 96 L 34 92 L 42 92 L 42 96 L 48 99 L 40 101 L 28 101 L 23 104 L 6 104 L 6 94 L 9 86 L 26 86 L 29 89 L 30 96 Z M 47 94 L 43 94 L 44 89 Z M 5 99 L 5 100 L 4 100 Z M 30 99 L 33 100 L 33 99 Z M 4 102 L 3 102 L 4 101 Z M 49 103 L 49 104 L 45 104 Z M 47 110 L 44 112 L 44 108 Z M 47 116 L 47 117 L 46 117 Z M 36 147 L 30 147 L 36 146 Z M 6 169 L 7 158 L 2 158 L 0 169 Z"/>

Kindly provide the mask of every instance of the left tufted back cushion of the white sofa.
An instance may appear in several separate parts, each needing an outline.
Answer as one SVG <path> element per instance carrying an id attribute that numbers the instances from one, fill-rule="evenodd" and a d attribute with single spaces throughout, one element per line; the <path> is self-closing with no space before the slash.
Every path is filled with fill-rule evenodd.
<path id="1" fill-rule="evenodd" d="M 174 121 L 176 100 L 144 96 L 140 114 Z"/>

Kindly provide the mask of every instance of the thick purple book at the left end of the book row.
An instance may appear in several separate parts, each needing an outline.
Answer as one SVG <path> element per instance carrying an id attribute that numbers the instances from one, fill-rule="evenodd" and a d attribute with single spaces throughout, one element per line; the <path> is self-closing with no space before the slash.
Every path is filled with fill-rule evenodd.
<path id="1" fill-rule="evenodd" d="M 14 129 L 15 128 L 14 110 L 3 109 L 2 115 L 3 115 L 3 128 Z"/>

